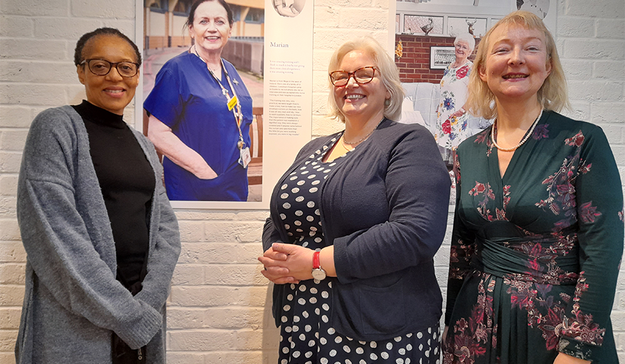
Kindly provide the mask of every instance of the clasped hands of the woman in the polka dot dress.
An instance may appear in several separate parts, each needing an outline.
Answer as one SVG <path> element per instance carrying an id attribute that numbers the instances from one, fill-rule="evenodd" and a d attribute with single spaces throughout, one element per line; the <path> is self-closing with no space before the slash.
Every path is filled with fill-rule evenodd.
<path id="1" fill-rule="evenodd" d="M 260 273 L 276 284 L 299 283 L 313 279 L 313 249 L 274 242 L 258 261 L 265 265 Z"/>

